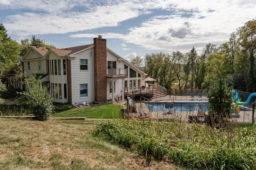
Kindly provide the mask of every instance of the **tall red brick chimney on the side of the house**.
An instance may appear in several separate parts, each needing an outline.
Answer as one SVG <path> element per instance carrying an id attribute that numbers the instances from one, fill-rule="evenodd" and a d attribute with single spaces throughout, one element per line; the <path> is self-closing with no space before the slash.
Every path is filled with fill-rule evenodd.
<path id="1" fill-rule="evenodd" d="M 97 102 L 107 100 L 107 46 L 106 40 L 94 38 L 94 97 Z"/>

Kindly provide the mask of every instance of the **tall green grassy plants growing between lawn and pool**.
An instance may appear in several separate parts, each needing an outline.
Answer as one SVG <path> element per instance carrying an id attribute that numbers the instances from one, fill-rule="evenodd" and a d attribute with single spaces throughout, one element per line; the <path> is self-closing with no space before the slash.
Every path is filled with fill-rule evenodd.
<path id="1" fill-rule="evenodd" d="M 189 168 L 256 169 L 256 130 L 221 130 L 177 121 L 115 120 L 98 123 L 94 134 L 138 154 Z"/>

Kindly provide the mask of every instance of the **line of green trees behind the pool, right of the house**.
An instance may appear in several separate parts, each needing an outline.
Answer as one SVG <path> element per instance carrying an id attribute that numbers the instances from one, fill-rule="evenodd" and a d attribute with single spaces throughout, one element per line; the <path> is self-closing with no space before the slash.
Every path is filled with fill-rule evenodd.
<path id="1" fill-rule="evenodd" d="M 208 43 L 198 54 L 192 47 L 187 53 L 149 53 L 131 63 L 157 79 L 166 89 L 211 89 L 212 82 L 224 77 L 228 86 L 240 91 L 256 91 L 254 55 L 256 20 L 250 20 L 230 34 L 220 46 Z"/>

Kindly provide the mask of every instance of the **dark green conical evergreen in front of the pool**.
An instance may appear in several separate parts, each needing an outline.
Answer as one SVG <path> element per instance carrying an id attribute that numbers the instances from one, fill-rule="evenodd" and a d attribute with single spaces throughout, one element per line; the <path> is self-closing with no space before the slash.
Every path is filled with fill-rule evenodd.
<path id="1" fill-rule="evenodd" d="M 212 83 L 208 93 L 208 123 L 212 128 L 228 128 L 228 119 L 232 113 L 232 87 L 226 85 L 226 79 L 220 77 Z"/>

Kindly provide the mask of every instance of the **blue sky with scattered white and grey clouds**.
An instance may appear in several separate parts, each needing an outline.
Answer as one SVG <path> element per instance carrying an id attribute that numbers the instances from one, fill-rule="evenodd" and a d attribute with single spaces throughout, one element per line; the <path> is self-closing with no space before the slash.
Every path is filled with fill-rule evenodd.
<path id="1" fill-rule="evenodd" d="M 221 45 L 256 19 L 256 0 L 0 0 L 8 36 L 36 36 L 57 48 L 93 43 L 130 61 L 146 53 L 186 53 Z"/>

